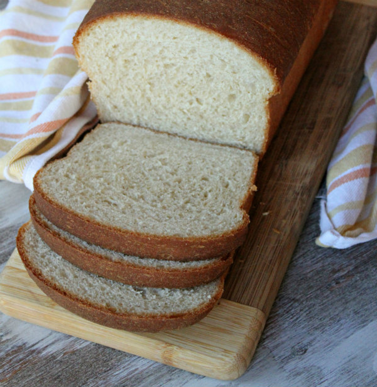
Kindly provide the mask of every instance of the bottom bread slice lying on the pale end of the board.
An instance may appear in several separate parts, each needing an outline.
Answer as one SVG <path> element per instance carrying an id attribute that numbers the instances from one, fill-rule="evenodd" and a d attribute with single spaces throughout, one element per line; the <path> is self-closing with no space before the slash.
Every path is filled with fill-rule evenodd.
<path id="1" fill-rule="evenodd" d="M 163 289 L 96 276 L 54 253 L 31 222 L 20 228 L 17 249 L 46 295 L 87 320 L 117 329 L 157 332 L 194 324 L 214 307 L 223 290 L 222 278 L 194 288 Z"/>

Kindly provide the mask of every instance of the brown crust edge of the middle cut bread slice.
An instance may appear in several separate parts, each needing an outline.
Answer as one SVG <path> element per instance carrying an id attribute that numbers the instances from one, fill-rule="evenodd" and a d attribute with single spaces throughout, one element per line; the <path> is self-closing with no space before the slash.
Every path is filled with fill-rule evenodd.
<path id="1" fill-rule="evenodd" d="M 83 270 L 125 284 L 151 288 L 191 288 L 220 277 L 233 262 L 233 253 L 211 265 L 188 269 L 148 267 L 113 261 L 61 238 L 38 216 L 33 196 L 29 200 L 29 209 L 37 233 L 54 252 Z"/>

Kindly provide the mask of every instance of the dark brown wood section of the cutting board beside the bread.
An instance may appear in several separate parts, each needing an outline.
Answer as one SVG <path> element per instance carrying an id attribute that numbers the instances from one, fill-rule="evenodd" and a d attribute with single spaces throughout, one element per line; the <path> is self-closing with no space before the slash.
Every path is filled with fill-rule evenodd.
<path id="1" fill-rule="evenodd" d="M 248 237 L 236 253 L 224 298 L 270 312 L 376 32 L 377 10 L 339 3 L 258 167 Z"/>

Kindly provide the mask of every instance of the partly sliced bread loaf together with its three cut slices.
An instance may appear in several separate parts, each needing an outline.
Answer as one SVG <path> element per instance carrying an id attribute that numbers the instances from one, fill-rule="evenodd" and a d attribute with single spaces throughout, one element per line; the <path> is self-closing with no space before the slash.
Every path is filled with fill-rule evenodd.
<path id="1" fill-rule="evenodd" d="M 202 319 L 335 3 L 97 0 L 74 47 L 102 124 L 34 178 L 17 248 L 37 285 L 118 329 Z"/>

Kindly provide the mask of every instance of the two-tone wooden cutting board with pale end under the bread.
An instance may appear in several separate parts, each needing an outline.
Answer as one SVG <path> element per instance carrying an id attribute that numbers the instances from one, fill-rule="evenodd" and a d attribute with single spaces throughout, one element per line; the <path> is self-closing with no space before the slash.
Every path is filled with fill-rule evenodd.
<path id="1" fill-rule="evenodd" d="M 259 166 L 246 243 L 219 305 L 198 324 L 158 334 L 102 327 L 67 312 L 27 275 L 17 252 L 0 277 L 8 315 L 220 379 L 245 372 L 326 170 L 377 32 L 377 10 L 340 3 Z M 314 243 L 314 241 L 313 241 Z"/>

